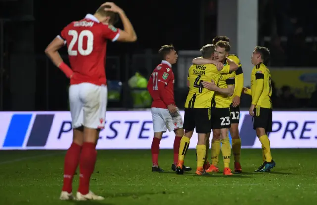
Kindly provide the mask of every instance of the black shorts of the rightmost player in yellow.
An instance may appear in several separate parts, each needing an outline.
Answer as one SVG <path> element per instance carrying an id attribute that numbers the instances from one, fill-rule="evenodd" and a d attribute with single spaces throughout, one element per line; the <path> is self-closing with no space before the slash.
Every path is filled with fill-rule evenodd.
<path id="1" fill-rule="evenodd" d="M 271 132 L 273 126 L 273 110 L 269 108 L 256 107 L 253 110 L 253 129 L 264 128 L 265 132 Z"/>

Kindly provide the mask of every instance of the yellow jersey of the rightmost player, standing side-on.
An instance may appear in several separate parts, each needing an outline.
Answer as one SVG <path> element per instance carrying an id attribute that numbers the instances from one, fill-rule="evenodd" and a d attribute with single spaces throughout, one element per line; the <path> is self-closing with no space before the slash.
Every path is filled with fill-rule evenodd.
<path id="1" fill-rule="evenodd" d="M 253 67 L 251 72 L 252 104 L 256 107 L 272 109 L 271 72 L 263 63 Z"/>

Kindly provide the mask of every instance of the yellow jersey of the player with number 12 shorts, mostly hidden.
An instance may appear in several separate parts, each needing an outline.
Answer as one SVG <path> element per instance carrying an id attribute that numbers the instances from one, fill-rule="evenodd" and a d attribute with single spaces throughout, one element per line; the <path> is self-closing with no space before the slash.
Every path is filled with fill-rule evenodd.
<path id="1" fill-rule="evenodd" d="M 241 92 L 243 89 L 243 70 L 238 56 L 234 54 L 229 54 L 228 58 L 230 60 L 233 60 L 239 66 L 238 69 L 233 73 L 235 77 L 234 92 L 232 96 L 229 96 L 229 99 L 231 99 L 232 102 L 234 96 L 241 96 Z"/>

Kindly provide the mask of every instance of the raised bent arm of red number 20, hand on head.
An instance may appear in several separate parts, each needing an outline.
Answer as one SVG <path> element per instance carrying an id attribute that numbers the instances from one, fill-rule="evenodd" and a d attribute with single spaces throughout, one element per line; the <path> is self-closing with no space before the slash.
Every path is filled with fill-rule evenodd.
<path id="1" fill-rule="evenodd" d="M 137 35 L 134 31 L 134 28 L 133 28 L 130 20 L 125 15 L 125 12 L 120 7 L 118 7 L 117 5 L 115 5 L 112 2 L 106 2 L 102 6 L 104 6 L 104 5 L 111 6 L 111 8 L 105 8 L 106 11 L 113 11 L 113 12 L 119 14 L 121 21 L 122 21 L 122 24 L 123 24 L 123 29 L 124 29 L 124 30 L 118 30 L 118 32 L 115 34 L 114 38 L 111 38 L 112 36 L 111 36 L 111 34 L 109 34 L 110 39 L 112 41 L 135 42 L 137 40 Z M 114 29 L 114 32 L 116 32 L 115 29 Z"/>

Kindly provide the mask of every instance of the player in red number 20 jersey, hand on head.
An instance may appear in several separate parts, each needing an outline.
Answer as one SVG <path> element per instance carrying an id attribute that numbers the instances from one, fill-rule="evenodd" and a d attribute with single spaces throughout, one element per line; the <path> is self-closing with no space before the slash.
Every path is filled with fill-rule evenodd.
<path id="1" fill-rule="evenodd" d="M 113 26 L 120 16 L 124 30 Z M 73 143 L 64 163 L 61 200 L 74 199 L 72 181 L 79 164 L 80 178 L 77 200 L 103 200 L 89 190 L 90 177 L 96 163 L 96 144 L 105 126 L 107 86 L 105 56 L 107 41 L 134 42 L 137 37 L 124 11 L 114 3 L 101 5 L 94 15 L 87 14 L 68 24 L 46 48 L 45 53 L 70 78 L 69 102 Z M 71 68 L 58 50 L 67 44 Z"/>

